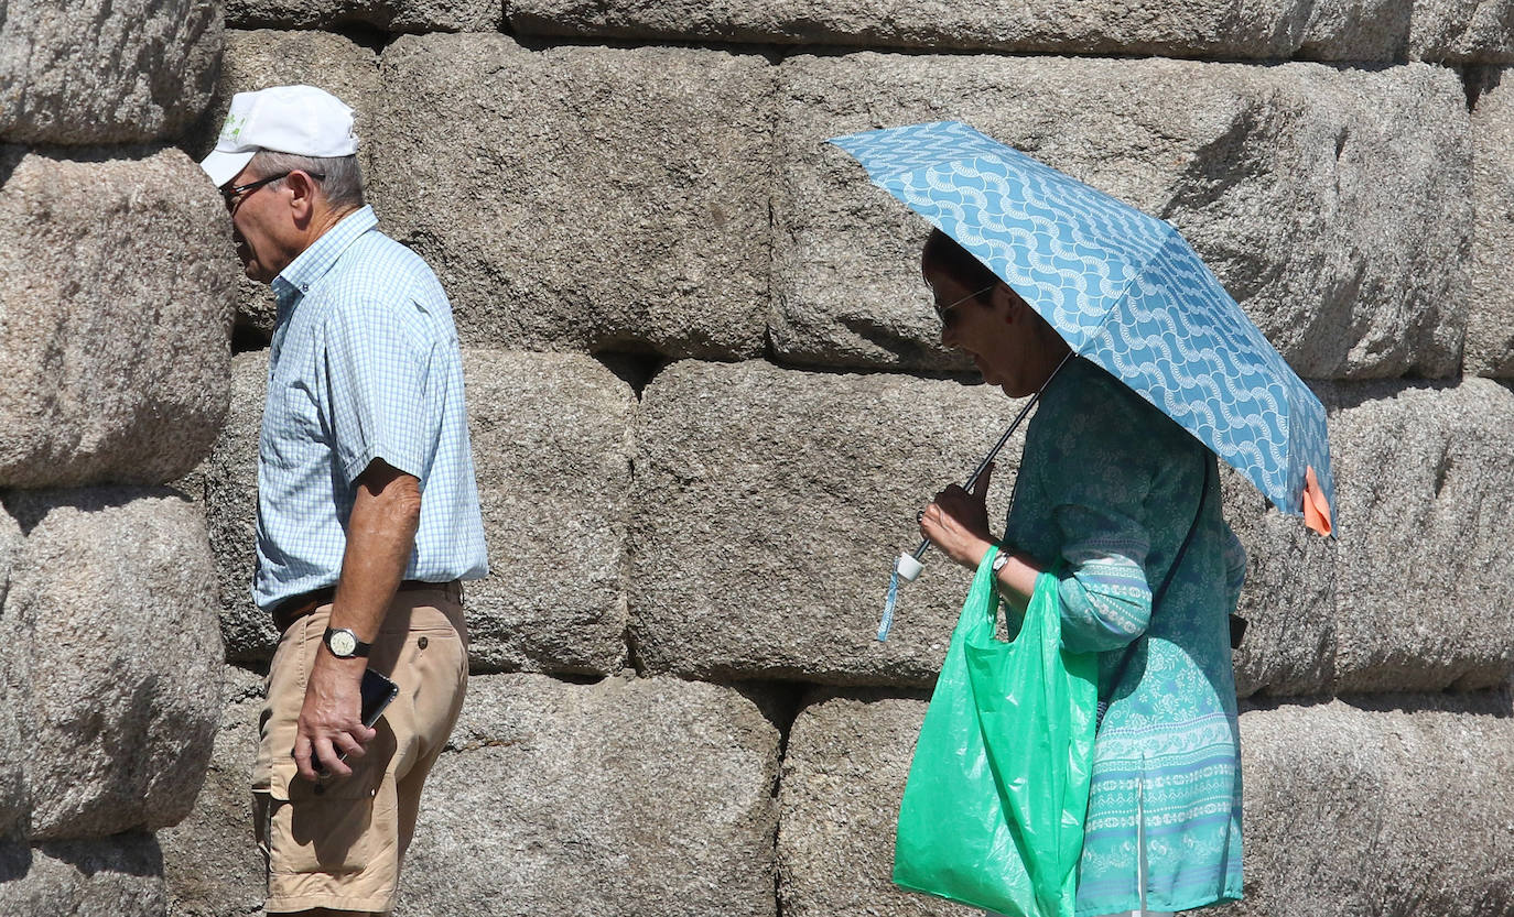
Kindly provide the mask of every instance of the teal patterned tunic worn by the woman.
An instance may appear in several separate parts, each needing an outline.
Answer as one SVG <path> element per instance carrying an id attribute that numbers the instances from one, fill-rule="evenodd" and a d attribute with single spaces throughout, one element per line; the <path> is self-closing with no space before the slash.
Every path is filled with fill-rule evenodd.
<path id="1" fill-rule="evenodd" d="M 1196 439 L 1081 359 L 1046 387 L 1026 431 L 1005 540 L 1061 564 L 1063 645 L 1099 652 L 1099 696 L 1110 701 L 1095 743 L 1078 917 L 1241 896 L 1228 614 L 1245 554 L 1214 474 L 1193 542 L 1151 607 L 1193 525 L 1205 463 L 1214 457 Z"/>

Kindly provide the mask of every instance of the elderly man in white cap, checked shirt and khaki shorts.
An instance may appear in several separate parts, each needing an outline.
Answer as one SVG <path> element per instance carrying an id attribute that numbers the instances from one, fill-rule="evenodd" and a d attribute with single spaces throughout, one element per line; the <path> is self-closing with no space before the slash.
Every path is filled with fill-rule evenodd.
<path id="1" fill-rule="evenodd" d="M 353 112 L 312 86 L 232 100 L 201 166 L 279 324 L 253 596 L 282 636 L 253 772 L 269 912 L 386 912 L 463 701 L 460 581 L 488 572 L 451 306 L 363 203 Z M 398 695 L 360 719 L 363 670 Z"/>

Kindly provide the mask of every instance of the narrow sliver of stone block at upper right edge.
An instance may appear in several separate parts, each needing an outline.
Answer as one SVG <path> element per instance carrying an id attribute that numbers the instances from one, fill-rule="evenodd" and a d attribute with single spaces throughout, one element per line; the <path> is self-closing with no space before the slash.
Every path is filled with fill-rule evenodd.
<path id="1" fill-rule="evenodd" d="M 1467 265 L 1469 374 L 1514 377 L 1514 85 L 1506 71 L 1484 74 L 1472 110 L 1472 257 Z"/>

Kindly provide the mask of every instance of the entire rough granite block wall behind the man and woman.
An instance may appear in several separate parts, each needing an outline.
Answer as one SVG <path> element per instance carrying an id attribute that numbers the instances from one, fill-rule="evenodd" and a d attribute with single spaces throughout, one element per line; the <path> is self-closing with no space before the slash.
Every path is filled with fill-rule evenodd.
<path id="1" fill-rule="evenodd" d="M 71 33 L 51 5 L 11 9 L 3 48 L 23 47 L 9 23 Z M 18 241 L 0 309 L 32 316 L 0 321 L 27 380 L 0 392 L 18 431 L 0 437 L 0 625 L 24 634 L 0 666 L 30 685 L 0 710 L 18 838 L 0 912 L 259 906 L 245 785 L 276 636 L 247 580 L 271 307 L 226 278 L 189 159 L 232 92 L 312 82 L 360 109 L 382 225 L 453 298 L 495 569 L 468 590 L 474 679 L 398 914 L 967 912 L 887 881 L 966 574 L 934 560 L 893 637 L 872 634 L 914 510 L 1019 406 L 939 345 L 925 225 L 822 142 L 940 118 L 1172 221 L 1329 412 L 1337 539 L 1225 480 L 1252 622 L 1248 897 L 1226 912 L 1514 914 L 1508 2 L 230 0 L 209 79 L 220 14 L 70 9 L 100 38 L 56 59 L 198 44 L 109 51 L 114 88 L 85 64 L 0 82 Z M 55 124 L 59 92 L 79 124 Z M 58 145 L 79 142 L 148 147 Z M 130 257 L 148 244 L 173 254 Z M 174 269 L 133 269 L 153 262 Z M 213 564 L 185 528 L 198 510 L 160 487 L 207 448 L 182 487 Z M 106 534 L 142 527 L 160 534 Z M 192 583 L 160 587 L 176 608 L 132 605 L 186 554 Z M 64 589 L 64 563 L 89 574 Z M 207 595 L 224 657 L 213 633 L 159 646 L 133 623 L 203 622 L 186 608 Z M 101 602 L 130 608 L 77 610 Z M 111 660 L 48 646 L 83 625 Z M 176 716 L 194 748 L 139 741 L 64 791 L 77 737 L 44 723 L 86 695 L 33 698 L 48 658 L 151 681 L 100 729 Z M 221 658 L 215 728 L 164 673 L 213 684 L 200 663 Z"/>

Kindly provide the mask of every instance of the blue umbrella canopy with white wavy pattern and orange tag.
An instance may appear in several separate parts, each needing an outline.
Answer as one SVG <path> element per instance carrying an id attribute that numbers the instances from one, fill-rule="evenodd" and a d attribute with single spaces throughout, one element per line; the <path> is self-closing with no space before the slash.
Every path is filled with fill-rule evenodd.
<path id="1" fill-rule="evenodd" d="M 1014 288 L 1075 354 L 1329 534 L 1325 407 L 1170 224 L 955 121 L 831 142 Z"/>

